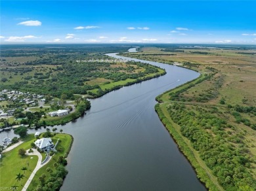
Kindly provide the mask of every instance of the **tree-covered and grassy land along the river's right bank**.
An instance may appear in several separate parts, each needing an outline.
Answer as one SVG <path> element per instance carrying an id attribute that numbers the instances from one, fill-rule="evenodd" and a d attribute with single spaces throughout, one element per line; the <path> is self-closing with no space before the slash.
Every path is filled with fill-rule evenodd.
<path id="1" fill-rule="evenodd" d="M 158 52 L 155 49 L 152 48 Z M 246 79 L 249 86 L 255 84 L 255 68 L 251 64 L 247 65 L 251 69 L 248 73 L 244 66 L 246 61 L 250 61 L 248 56 L 244 56 L 239 63 L 234 52 L 230 54 L 230 50 L 222 51 L 218 52 L 218 61 L 213 60 L 213 50 L 213 56 L 203 57 L 207 61 L 202 60 L 202 56 L 190 57 L 191 53 L 186 50 L 179 56 L 165 58 L 161 55 L 152 58 L 148 54 L 151 60 L 163 59 L 165 63 L 178 61 L 178 58 L 182 61 L 184 56 L 183 67 L 203 74 L 156 97 L 159 103 L 155 109 L 165 128 L 195 168 L 198 179 L 209 190 L 253 190 L 256 187 L 256 150 L 251 141 L 255 141 L 256 134 L 253 114 L 255 91 L 244 84 L 238 87 L 237 83 Z M 142 57 L 146 56 L 144 52 Z M 221 64 L 226 62 L 227 56 L 234 62 L 230 65 Z M 135 54 L 133 57 L 141 58 Z M 187 61 L 188 58 L 190 61 Z M 213 64 L 209 64 L 209 61 Z"/>

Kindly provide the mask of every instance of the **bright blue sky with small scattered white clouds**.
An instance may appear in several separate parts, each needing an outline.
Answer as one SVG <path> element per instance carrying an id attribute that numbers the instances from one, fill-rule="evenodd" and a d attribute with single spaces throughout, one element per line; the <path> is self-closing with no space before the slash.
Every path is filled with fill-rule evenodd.
<path id="1" fill-rule="evenodd" d="M 256 44 L 256 1 L 0 1 L 0 43 Z"/>

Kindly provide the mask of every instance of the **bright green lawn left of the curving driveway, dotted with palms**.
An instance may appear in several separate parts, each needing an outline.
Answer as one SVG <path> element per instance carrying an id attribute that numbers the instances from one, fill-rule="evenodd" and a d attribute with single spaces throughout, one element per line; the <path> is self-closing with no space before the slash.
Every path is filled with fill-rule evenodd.
<path id="1" fill-rule="evenodd" d="M 4 153 L 3 158 L 0 159 L 0 188 L 11 187 L 14 185 L 20 187 L 21 185 L 24 185 L 35 168 L 38 161 L 37 156 L 21 157 L 18 155 L 18 150 L 20 148 L 24 148 L 25 150 L 30 148 L 30 143 L 35 141 L 35 137 L 33 135 L 28 135 L 24 141 L 26 142 L 22 143 L 22 145 Z M 24 171 L 21 170 L 22 167 L 28 167 L 28 170 L 24 173 Z M 25 175 L 20 182 L 17 182 L 15 179 L 18 173 L 24 173 Z"/>

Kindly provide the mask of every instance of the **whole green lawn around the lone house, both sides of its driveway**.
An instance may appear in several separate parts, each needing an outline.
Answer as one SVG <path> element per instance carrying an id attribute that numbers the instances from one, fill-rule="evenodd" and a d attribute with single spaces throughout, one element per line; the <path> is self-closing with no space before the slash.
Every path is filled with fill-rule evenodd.
<path id="1" fill-rule="evenodd" d="M 54 157 L 51 159 L 51 161 L 43 166 L 37 173 L 35 174 L 35 177 L 33 178 L 32 183 L 30 184 L 30 187 L 28 190 L 35 190 L 37 185 L 39 184 L 38 177 L 45 173 L 46 175 L 48 172 L 46 171 L 47 167 L 51 167 L 54 170 L 53 164 L 56 162 L 56 159 L 58 156 L 64 156 L 66 152 L 71 147 L 72 143 L 72 137 L 68 134 L 62 134 L 57 133 L 55 137 L 52 137 L 53 143 L 56 143 L 56 141 L 60 139 L 60 142 L 58 143 L 57 149 L 59 147 L 62 147 L 63 150 L 61 152 L 57 152 Z M 18 155 L 18 150 L 20 148 L 24 148 L 25 150 L 31 148 L 30 144 L 35 141 L 35 137 L 33 135 L 28 135 L 24 139 L 24 143 L 22 145 L 19 145 L 18 147 L 14 148 L 13 150 L 6 152 L 3 154 L 3 158 L 0 159 L 0 187 L 13 187 L 18 186 L 18 190 L 22 189 L 22 186 L 28 181 L 28 177 L 30 177 L 33 169 L 35 168 L 35 165 L 37 164 L 38 157 L 37 156 L 24 156 L 20 157 Z M 43 159 L 45 158 L 45 154 L 42 154 Z M 28 170 L 22 171 L 22 167 L 28 167 Z M 21 179 L 20 182 L 16 181 L 16 175 L 18 173 L 24 174 L 24 178 Z"/>

